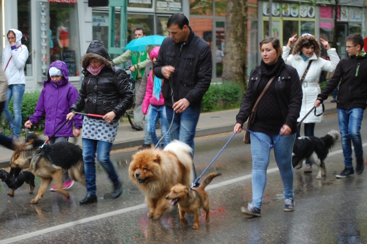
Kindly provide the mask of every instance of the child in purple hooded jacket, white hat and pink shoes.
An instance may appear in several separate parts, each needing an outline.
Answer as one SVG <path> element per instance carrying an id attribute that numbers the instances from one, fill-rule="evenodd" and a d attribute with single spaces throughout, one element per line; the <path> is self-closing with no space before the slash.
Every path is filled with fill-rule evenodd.
<path id="1" fill-rule="evenodd" d="M 25 128 L 31 128 L 32 124 L 41 121 L 46 114 L 45 136 L 50 136 L 58 130 L 65 122 L 66 116 L 69 113 L 69 107 L 78 98 L 78 90 L 69 82 L 68 67 L 63 61 L 54 61 L 50 64 L 47 72 L 47 81 L 44 81 L 44 88 L 41 91 L 38 99 L 35 113 L 29 117 L 29 120 L 24 123 Z M 67 142 L 69 137 L 80 135 L 82 127 L 82 116 L 76 115 L 72 119 L 75 129 L 73 130 L 72 122 L 68 122 L 53 138 L 50 139 L 50 144 L 56 142 Z M 74 184 L 69 177 L 68 172 L 64 174 L 63 189 L 68 189 Z M 50 188 L 50 191 L 56 191 L 56 185 Z"/>

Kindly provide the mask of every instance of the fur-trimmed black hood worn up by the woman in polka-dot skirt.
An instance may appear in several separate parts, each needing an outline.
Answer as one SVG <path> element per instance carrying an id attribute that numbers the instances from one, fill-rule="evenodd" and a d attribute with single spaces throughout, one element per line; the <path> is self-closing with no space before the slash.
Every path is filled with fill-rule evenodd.
<path id="1" fill-rule="evenodd" d="M 99 41 L 92 41 L 91 44 L 89 44 L 87 53 L 83 56 L 81 61 L 83 69 L 87 69 L 90 59 L 102 61 L 110 68 L 114 66 L 114 62 L 112 61 L 110 55 L 106 51 L 103 44 Z"/>

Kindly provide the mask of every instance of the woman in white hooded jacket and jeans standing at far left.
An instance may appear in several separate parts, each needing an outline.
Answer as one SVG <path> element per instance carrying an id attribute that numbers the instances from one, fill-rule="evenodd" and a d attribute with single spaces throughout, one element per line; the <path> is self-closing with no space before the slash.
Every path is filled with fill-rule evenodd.
<path id="1" fill-rule="evenodd" d="M 28 59 L 28 49 L 25 45 L 22 45 L 22 36 L 22 32 L 19 30 L 9 30 L 7 38 L 10 45 L 4 47 L 1 61 L 2 69 L 8 79 L 7 100 L 2 114 L 12 130 L 13 140 L 17 142 L 19 141 L 22 127 L 21 105 L 25 89 L 24 66 Z M 12 97 L 14 119 L 8 110 Z"/>

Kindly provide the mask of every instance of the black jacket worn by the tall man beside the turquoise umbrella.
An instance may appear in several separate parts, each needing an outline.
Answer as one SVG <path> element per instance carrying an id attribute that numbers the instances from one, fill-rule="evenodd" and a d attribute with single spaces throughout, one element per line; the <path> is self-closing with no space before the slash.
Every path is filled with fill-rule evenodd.
<path id="1" fill-rule="evenodd" d="M 171 83 L 174 101 L 187 99 L 190 106 L 201 106 L 203 96 L 211 81 L 211 50 L 202 38 L 190 28 L 186 42 L 176 43 L 172 38 L 164 39 L 154 64 L 154 74 L 163 79 L 161 68 L 165 65 L 175 67 L 170 80 L 164 79 L 162 95 L 164 104 L 172 107 Z"/>

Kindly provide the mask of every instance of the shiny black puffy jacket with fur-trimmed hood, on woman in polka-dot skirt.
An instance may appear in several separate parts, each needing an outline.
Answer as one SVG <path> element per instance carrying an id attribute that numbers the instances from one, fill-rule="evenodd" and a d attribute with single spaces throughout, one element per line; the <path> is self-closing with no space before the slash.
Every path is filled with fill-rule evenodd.
<path id="1" fill-rule="evenodd" d="M 97 59 L 106 64 L 97 76 L 87 70 L 90 59 Z M 99 41 L 91 42 L 81 62 L 84 79 L 79 97 L 70 107 L 70 112 L 80 112 L 84 109 L 86 113 L 105 115 L 114 111 L 116 119 L 120 118 L 132 106 L 134 97 L 126 72 L 114 65 Z"/>

